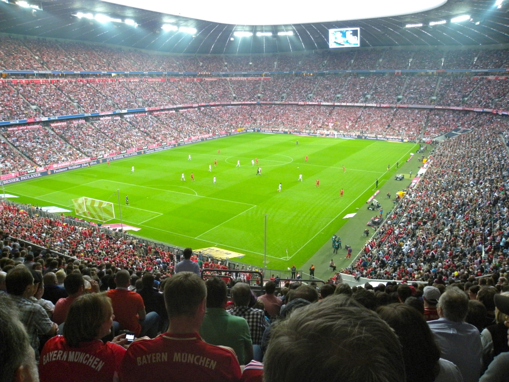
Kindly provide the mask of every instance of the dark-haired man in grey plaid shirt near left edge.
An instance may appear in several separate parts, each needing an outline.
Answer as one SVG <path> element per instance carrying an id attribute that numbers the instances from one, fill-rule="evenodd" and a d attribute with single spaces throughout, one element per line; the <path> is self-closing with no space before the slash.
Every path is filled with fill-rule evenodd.
<path id="1" fill-rule="evenodd" d="M 48 317 L 42 306 L 30 301 L 34 289 L 34 277 L 25 266 L 11 270 L 6 278 L 7 293 L 19 309 L 20 320 L 29 335 L 30 345 L 39 359 L 39 335 L 53 337 L 58 333 L 58 325 Z"/>

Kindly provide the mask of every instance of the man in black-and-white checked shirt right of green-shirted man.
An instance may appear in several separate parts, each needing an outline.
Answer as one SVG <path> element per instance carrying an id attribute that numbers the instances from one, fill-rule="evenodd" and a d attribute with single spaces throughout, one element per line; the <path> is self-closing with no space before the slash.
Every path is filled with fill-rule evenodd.
<path id="1" fill-rule="evenodd" d="M 245 283 L 237 283 L 232 288 L 232 299 L 235 308 L 230 309 L 229 313 L 246 319 L 251 333 L 253 345 L 262 344 L 262 336 L 265 328 L 267 328 L 267 320 L 265 313 L 260 309 L 249 308 L 251 301 L 251 288 Z"/>

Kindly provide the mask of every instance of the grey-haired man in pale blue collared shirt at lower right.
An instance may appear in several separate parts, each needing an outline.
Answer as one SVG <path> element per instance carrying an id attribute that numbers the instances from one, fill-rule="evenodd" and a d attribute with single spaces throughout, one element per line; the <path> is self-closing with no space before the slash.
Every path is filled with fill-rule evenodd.
<path id="1" fill-rule="evenodd" d="M 438 320 L 428 321 L 442 358 L 454 363 L 464 382 L 477 382 L 480 376 L 482 344 L 475 326 L 464 322 L 468 297 L 455 286 L 447 287 L 437 305 Z"/>

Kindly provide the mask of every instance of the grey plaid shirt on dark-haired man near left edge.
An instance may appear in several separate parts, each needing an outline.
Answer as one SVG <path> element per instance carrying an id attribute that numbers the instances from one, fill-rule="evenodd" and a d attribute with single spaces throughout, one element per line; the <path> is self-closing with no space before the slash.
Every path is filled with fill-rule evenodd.
<path id="1" fill-rule="evenodd" d="M 10 296 L 19 309 L 19 319 L 25 326 L 30 345 L 34 348 L 36 359 L 39 360 L 39 335 L 49 333 L 53 328 L 53 322 L 49 319 L 46 310 L 39 304 L 35 304 L 23 296 L 12 294 Z"/>

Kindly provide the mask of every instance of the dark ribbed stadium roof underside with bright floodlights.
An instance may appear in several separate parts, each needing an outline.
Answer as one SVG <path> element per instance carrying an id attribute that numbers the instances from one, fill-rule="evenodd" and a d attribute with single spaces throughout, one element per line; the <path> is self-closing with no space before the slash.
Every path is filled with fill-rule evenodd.
<path id="1" fill-rule="evenodd" d="M 7 1 L 17 1 L 18 5 L 6 4 Z M 240 12 L 249 12 L 257 4 L 236 4 L 235 7 Z M 266 12 L 272 11 L 266 9 Z M 249 54 L 328 49 L 328 29 L 358 27 L 364 47 L 471 46 L 509 43 L 508 11 L 509 0 L 448 0 L 436 9 L 412 15 L 247 26 L 173 16 L 99 0 L 49 0 L 42 3 L 0 0 L 0 33 L 172 53 Z M 458 16 L 469 17 L 461 22 L 451 22 Z M 126 19 L 131 21 L 126 22 Z M 430 25 L 435 22 L 437 24 Z M 419 24 L 422 26 L 416 26 Z M 163 25 L 166 25 L 164 29 Z M 238 37 L 235 32 L 252 33 L 252 36 Z M 257 36 L 259 32 L 271 35 Z M 287 35 L 278 35 L 280 32 Z"/>

